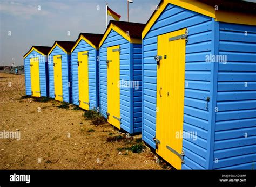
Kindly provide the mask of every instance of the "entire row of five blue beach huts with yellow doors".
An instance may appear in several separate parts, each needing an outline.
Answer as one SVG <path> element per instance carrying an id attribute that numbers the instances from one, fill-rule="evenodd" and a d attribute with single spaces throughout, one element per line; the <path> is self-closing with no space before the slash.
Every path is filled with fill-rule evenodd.
<path id="1" fill-rule="evenodd" d="M 146 24 L 32 46 L 26 95 L 98 108 L 176 169 L 254 169 L 253 6 L 163 0 Z"/>

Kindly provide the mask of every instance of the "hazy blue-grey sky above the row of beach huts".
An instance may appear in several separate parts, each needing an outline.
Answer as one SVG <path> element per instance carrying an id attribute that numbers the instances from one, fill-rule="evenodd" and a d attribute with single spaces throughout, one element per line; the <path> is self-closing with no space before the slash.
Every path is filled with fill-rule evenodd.
<path id="1" fill-rule="evenodd" d="M 3 61 L 5 65 L 14 60 L 17 65 L 23 64 L 23 55 L 32 45 L 52 46 L 55 40 L 75 41 L 80 32 L 104 33 L 106 2 L 122 16 L 120 20 L 127 21 L 127 0 L 0 0 L 1 66 Z M 146 23 L 159 2 L 133 0 L 130 21 Z M 112 18 L 109 16 L 109 19 Z"/>

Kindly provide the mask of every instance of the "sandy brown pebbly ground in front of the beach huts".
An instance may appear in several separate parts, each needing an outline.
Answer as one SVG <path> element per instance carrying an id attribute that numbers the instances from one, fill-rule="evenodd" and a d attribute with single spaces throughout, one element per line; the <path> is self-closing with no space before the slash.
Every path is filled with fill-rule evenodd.
<path id="1" fill-rule="evenodd" d="M 170 169 L 146 147 L 142 153 L 117 150 L 136 139 L 109 124 L 93 125 L 83 110 L 36 102 L 25 95 L 23 75 L 0 73 L 0 132 L 20 132 L 21 140 L 0 139 L 0 169 Z"/>

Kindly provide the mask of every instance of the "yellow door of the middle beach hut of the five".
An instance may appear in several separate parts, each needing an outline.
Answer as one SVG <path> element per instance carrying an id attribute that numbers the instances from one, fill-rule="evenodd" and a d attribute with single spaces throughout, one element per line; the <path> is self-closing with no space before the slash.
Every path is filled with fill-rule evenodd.
<path id="1" fill-rule="evenodd" d="M 78 91 L 79 106 L 89 110 L 89 78 L 88 78 L 88 52 L 78 52 Z"/>

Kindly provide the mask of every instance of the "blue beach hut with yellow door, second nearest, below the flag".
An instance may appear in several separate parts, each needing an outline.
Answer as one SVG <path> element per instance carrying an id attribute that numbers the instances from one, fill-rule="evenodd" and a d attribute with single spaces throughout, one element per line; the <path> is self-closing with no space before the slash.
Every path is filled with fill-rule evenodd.
<path id="1" fill-rule="evenodd" d="M 142 131 L 142 30 L 145 24 L 110 21 L 99 44 L 100 113 L 129 133 Z"/>

